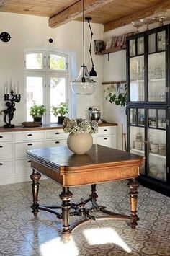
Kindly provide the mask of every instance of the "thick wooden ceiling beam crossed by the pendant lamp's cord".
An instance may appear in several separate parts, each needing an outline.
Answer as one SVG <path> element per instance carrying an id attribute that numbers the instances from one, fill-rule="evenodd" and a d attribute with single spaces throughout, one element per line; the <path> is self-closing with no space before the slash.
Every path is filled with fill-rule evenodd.
<path id="1" fill-rule="evenodd" d="M 84 14 L 92 12 L 95 9 L 109 4 L 113 0 L 84 0 Z M 50 27 L 58 27 L 63 25 L 71 20 L 77 19 L 82 15 L 82 1 L 77 1 L 76 4 L 69 6 L 67 9 L 56 14 L 49 19 Z"/>

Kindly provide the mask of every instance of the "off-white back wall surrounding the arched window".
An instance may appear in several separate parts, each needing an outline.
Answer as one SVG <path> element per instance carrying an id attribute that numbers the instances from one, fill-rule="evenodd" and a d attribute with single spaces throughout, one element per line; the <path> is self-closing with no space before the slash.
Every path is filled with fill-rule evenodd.
<path id="1" fill-rule="evenodd" d="M 92 24 L 94 32 L 94 40 L 103 39 L 103 26 Z M 85 25 L 86 36 L 86 61 L 88 69 L 91 69 L 91 61 L 89 58 L 89 27 Z M 11 40 L 9 43 L 0 41 L 0 111 L 4 109 L 3 87 L 6 81 L 12 78 L 12 81 L 17 83 L 22 93 L 22 101 L 16 104 L 16 112 L 12 123 L 20 125 L 24 121 L 24 50 L 32 48 L 47 48 L 52 50 L 67 51 L 73 57 L 73 77 L 78 74 L 82 65 L 82 24 L 81 22 L 69 22 L 61 27 L 51 29 L 48 27 L 48 18 L 36 17 L 22 14 L 11 14 L 0 12 L 0 32 L 9 32 Z M 53 38 L 53 43 L 49 43 L 48 39 Z M 94 56 L 94 51 L 92 49 Z M 95 69 L 97 71 L 97 92 L 89 96 L 75 97 L 77 117 L 87 117 L 87 109 L 93 105 L 99 105 L 102 108 L 102 86 L 103 80 L 102 56 L 94 56 Z M 3 116 L 0 115 L 0 126 L 4 124 Z"/>

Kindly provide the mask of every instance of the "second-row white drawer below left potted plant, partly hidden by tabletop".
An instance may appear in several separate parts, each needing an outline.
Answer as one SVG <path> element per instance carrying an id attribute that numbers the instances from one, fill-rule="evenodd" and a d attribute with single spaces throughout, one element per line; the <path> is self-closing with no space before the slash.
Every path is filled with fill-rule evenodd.
<path id="1" fill-rule="evenodd" d="M 27 158 L 27 150 L 44 147 L 44 141 L 22 142 L 15 144 L 15 159 Z"/>

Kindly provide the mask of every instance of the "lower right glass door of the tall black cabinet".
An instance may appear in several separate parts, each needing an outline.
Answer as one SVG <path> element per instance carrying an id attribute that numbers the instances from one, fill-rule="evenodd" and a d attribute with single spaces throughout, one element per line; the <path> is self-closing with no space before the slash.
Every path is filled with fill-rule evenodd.
<path id="1" fill-rule="evenodd" d="M 148 109 L 148 176 L 166 181 L 166 110 Z"/>

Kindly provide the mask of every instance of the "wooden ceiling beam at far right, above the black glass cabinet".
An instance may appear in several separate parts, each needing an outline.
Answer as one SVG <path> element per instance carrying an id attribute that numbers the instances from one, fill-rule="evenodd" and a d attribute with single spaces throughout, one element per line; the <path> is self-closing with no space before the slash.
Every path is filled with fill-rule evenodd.
<path id="1" fill-rule="evenodd" d="M 161 4 L 156 4 L 154 6 L 151 6 L 147 9 L 143 9 L 140 12 L 135 12 L 134 14 L 128 15 L 126 17 L 123 17 L 121 19 L 117 19 L 113 22 L 109 22 L 107 24 L 104 25 L 104 32 L 107 32 L 109 30 L 113 30 L 117 27 L 122 27 L 125 25 L 130 24 L 132 21 L 135 20 L 139 20 L 139 19 L 143 19 L 145 17 L 149 17 L 151 15 L 153 15 L 153 13 L 155 12 L 156 9 L 158 9 L 158 7 L 164 7 L 166 9 L 170 8 L 170 1 L 162 1 Z"/>

